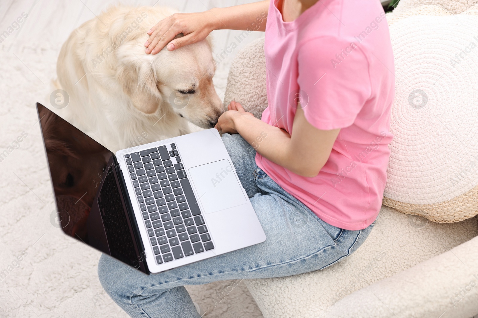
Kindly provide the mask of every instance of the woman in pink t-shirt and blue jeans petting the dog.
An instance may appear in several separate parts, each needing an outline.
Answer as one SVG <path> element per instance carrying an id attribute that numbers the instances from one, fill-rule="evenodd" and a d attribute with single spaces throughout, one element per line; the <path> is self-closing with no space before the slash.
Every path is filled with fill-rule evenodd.
<path id="1" fill-rule="evenodd" d="M 146 53 L 155 54 L 217 29 L 258 23 L 265 31 L 269 106 L 259 120 L 231 102 L 216 128 L 267 239 L 150 276 L 126 273 L 103 255 L 100 281 L 131 317 L 199 317 L 184 285 L 314 271 L 364 242 L 380 210 L 392 139 L 384 17 L 377 0 L 267 0 L 174 14 L 148 32 Z"/>

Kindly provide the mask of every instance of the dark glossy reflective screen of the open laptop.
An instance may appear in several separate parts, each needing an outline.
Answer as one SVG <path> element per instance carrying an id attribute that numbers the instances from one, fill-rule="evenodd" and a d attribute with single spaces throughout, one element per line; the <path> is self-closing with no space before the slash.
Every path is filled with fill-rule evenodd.
<path id="1" fill-rule="evenodd" d="M 57 207 L 52 224 L 68 236 L 147 271 L 114 154 L 43 105 L 37 103 L 37 110 Z"/>

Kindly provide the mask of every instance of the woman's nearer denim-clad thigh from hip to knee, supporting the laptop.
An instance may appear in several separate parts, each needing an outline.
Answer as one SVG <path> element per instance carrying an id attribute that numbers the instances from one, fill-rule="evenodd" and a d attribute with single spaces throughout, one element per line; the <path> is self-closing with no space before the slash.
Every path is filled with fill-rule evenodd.
<path id="1" fill-rule="evenodd" d="M 103 287 L 122 296 L 148 296 L 183 285 L 310 272 L 346 257 L 372 227 L 359 231 L 338 229 L 273 193 L 258 193 L 250 201 L 266 234 L 263 243 L 149 276 L 103 255 L 98 264 Z M 291 214 L 301 215 L 306 222 L 291 222 Z"/>

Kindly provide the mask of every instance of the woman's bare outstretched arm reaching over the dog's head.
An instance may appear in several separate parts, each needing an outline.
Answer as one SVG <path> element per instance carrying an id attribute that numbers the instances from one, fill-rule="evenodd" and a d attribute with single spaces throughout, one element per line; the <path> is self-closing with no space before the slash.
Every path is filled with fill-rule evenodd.
<path id="1" fill-rule="evenodd" d="M 159 21 L 148 31 L 150 37 L 144 43 L 147 48 L 145 52 L 156 54 L 168 43 L 168 50 L 173 51 L 206 39 L 213 30 L 249 28 L 254 31 L 265 31 L 268 9 L 269 0 L 265 0 L 228 8 L 213 8 L 198 13 L 175 13 Z M 183 33 L 184 36 L 174 39 L 179 33 Z"/>

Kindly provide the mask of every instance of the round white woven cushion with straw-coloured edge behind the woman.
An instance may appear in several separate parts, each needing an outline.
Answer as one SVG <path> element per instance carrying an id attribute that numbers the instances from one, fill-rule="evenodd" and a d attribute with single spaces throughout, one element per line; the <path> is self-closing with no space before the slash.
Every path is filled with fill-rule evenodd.
<path id="1" fill-rule="evenodd" d="M 396 94 L 383 204 L 434 222 L 478 214 L 477 8 L 428 5 L 389 20 Z"/>

